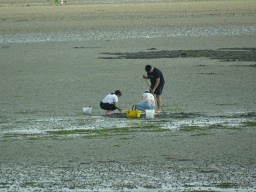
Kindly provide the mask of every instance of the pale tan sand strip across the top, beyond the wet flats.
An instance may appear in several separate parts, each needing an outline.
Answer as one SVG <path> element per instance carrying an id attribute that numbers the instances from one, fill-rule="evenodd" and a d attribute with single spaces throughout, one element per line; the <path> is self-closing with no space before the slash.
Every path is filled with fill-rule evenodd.
<path id="1" fill-rule="evenodd" d="M 255 23 L 255 1 L 250 0 L 0 8 L 1 31 L 7 33 Z"/>

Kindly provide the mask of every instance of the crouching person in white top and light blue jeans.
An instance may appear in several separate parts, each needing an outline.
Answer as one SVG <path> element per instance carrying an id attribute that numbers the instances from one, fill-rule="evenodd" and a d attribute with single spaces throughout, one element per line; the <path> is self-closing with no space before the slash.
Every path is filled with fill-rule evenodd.
<path id="1" fill-rule="evenodd" d="M 135 105 L 136 110 L 142 110 L 145 112 L 147 109 L 154 109 L 155 108 L 155 98 L 149 90 L 146 90 L 141 95 L 141 102 Z"/>

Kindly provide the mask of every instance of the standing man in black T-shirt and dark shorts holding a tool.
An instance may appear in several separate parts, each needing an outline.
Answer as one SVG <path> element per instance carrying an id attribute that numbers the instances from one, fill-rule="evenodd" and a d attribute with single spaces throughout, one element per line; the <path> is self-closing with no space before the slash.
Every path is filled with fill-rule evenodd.
<path id="1" fill-rule="evenodd" d="M 163 73 L 156 67 L 146 65 L 145 70 L 147 76 L 143 75 L 143 79 L 150 79 L 151 82 L 151 93 L 156 95 L 157 100 L 157 113 L 161 110 L 161 95 L 164 88 L 164 76 Z"/>

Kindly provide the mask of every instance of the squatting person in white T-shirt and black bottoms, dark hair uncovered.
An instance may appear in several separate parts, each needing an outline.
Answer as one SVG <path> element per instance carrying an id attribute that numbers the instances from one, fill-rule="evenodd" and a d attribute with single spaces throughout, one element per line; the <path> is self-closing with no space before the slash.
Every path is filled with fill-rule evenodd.
<path id="1" fill-rule="evenodd" d="M 118 109 L 120 112 L 121 107 L 117 105 L 118 98 L 121 97 L 122 93 L 119 90 L 116 90 L 115 93 L 106 95 L 100 102 L 101 109 L 106 110 L 106 115 L 111 115 L 111 111 Z"/>

